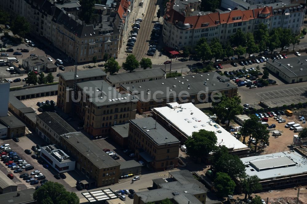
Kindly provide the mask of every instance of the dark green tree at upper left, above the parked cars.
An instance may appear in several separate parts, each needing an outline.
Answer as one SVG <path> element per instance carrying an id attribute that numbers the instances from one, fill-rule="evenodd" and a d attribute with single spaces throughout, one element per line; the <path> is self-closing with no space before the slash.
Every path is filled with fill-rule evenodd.
<path id="1" fill-rule="evenodd" d="M 25 37 L 30 32 L 30 24 L 23 16 L 17 15 L 10 27 L 13 34 L 19 35 L 19 37 Z"/>

